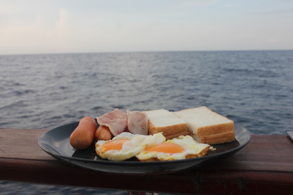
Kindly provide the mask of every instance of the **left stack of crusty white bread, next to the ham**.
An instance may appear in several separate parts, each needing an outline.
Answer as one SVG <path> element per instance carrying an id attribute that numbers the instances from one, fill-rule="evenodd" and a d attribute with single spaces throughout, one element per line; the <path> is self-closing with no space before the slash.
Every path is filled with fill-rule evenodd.
<path id="1" fill-rule="evenodd" d="M 148 115 L 148 130 L 151 135 L 162 132 L 166 139 L 189 135 L 187 122 L 165 109 L 144 111 Z"/>

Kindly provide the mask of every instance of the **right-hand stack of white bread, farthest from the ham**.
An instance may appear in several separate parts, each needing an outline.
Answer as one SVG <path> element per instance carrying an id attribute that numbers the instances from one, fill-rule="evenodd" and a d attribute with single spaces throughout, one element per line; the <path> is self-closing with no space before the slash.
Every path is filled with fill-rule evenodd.
<path id="1" fill-rule="evenodd" d="M 187 122 L 187 129 L 199 143 L 221 144 L 235 140 L 234 122 L 205 106 L 173 113 Z"/>

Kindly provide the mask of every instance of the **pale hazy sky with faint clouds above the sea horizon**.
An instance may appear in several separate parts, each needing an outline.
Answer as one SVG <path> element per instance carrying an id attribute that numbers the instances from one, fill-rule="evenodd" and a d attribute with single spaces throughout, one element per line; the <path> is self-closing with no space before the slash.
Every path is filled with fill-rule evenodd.
<path id="1" fill-rule="evenodd" d="M 292 49 L 293 0 L 0 0 L 0 55 Z"/>

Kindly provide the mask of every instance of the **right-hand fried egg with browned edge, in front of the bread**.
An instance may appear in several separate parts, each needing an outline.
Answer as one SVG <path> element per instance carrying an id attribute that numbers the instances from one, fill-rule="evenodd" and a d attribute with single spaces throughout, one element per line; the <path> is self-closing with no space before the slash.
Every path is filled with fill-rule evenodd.
<path id="1" fill-rule="evenodd" d="M 214 150 L 212 146 L 200 144 L 187 135 L 148 147 L 137 154 L 136 158 L 140 161 L 182 160 L 206 156 L 209 149 Z"/>

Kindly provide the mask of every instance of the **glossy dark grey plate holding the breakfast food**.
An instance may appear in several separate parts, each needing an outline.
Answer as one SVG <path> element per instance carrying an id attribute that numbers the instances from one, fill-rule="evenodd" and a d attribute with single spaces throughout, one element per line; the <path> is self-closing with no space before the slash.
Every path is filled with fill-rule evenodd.
<path id="1" fill-rule="evenodd" d="M 79 167 L 120 174 L 159 174 L 197 168 L 220 158 L 226 158 L 241 148 L 251 139 L 250 132 L 234 124 L 236 140 L 226 144 L 212 145 L 216 151 L 209 151 L 207 156 L 176 161 L 140 162 L 135 157 L 126 161 L 108 161 L 100 158 L 95 151 L 95 143 L 85 150 L 76 150 L 69 143 L 69 137 L 79 122 L 69 123 L 51 129 L 39 138 L 40 147 L 57 159 Z M 98 126 L 98 125 L 97 125 Z"/>

